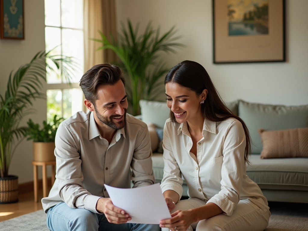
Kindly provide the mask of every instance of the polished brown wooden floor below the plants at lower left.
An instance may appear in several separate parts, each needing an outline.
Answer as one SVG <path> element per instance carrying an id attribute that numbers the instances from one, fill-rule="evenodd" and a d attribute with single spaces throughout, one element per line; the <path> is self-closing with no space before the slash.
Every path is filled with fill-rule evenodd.
<path id="1" fill-rule="evenodd" d="M 50 190 L 50 188 L 48 188 Z M 17 203 L 0 204 L 0 221 L 5 221 L 14 217 L 31 213 L 43 209 L 41 199 L 43 198 L 43 189 L 39 189 L 39 202 L 34 202 L 34 192 L 27 192 L 18 195 Z"/>

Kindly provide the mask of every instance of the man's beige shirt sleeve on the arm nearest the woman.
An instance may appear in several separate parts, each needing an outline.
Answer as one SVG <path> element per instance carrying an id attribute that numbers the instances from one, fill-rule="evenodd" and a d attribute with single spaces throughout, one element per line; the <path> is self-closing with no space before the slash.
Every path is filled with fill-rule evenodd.
<path id="1" fill-rule="evenodd" d="M 140 130 L 135 143 L 131 162 L 133 188 L 155 183 L 152 170 L 152 149 L 148 127 Z"/>

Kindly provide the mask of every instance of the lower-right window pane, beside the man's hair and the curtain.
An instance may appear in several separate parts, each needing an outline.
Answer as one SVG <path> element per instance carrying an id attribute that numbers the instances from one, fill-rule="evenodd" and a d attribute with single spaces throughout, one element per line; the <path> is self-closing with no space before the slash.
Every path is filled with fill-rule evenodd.
<path id="1" fill-rule="evenodd" d="M 83 93 L 80 88 L 63 90 L 63 117 L 68 118 L 82 111 Z"/>

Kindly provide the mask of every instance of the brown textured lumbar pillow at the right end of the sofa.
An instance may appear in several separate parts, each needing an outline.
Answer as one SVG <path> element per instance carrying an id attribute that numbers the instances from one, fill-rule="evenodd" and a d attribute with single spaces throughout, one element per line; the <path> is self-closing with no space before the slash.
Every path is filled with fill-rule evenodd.
<path id="1" fill-rule="evenodd" d="M 260 158 L 308 157 L 308 128 L 266 131 L 258 129 L 263 149 Z"/>

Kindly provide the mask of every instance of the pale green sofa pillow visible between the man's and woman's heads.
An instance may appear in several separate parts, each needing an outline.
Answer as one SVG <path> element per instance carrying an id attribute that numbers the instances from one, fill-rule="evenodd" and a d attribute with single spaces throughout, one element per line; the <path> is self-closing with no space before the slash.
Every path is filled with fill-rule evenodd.
<path id="1" fill-rule="evenodd" d="M 166 102 L 139 101 L 141 109 L 141 120 L 144 123 L 153 123 L 157 128 L 164 128 L 166 120 L 169 118 L 170 108 Z"/>

